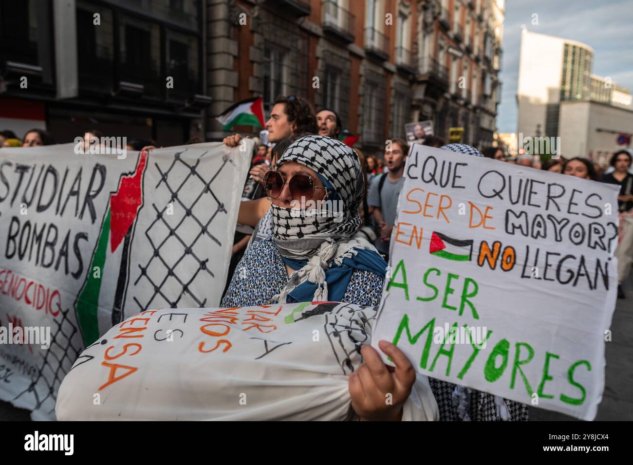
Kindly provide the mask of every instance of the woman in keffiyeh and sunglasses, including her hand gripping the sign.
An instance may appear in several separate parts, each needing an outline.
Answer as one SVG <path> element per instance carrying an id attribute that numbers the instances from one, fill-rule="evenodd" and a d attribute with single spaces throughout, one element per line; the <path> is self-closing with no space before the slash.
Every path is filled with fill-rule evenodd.
<path id="1" fill-rule="evenodd" d="M 364 185 L 358 156 L 339 140 L 310 135 L 293 142 L 277 161 L 276 171 L 266 173 L 273 235 L 244 254 L 222 306 L 310 301 L 377 306 L 387 263 L 356 235 Z M 319 206 L 319 212 L 306 214 L 308 204 L 323 200 L 329 201 L 326 214 Z M 330 209 L 334 205 L 342 208 Z M 427 378 L 415 374 L 398 347 L 387 341 L 379 345 L 396 368 L 382 363 L 370 345 L 360 349 L 365 363 L 349 376 L 357 418 L 398 421 L 404 409 L 407 419 L 437 418 Z M 410 407 L 412 389 L 427 407 Z M 385 395 L 392 396 L 390 404 Z"/>

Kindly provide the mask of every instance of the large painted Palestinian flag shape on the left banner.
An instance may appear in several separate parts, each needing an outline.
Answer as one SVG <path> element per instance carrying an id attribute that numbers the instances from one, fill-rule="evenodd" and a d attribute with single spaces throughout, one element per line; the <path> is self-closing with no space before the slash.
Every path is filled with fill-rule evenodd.
<path id="1" fill-rule="evenodd" d="M 122 321 L 127 290 L 130 245 L 143 203 L 143 174 L 147 152 L 141 152 L 134 173 L 123 175 L 110 204 L 88 267 L 86 280 L 77 296 L 77 321 L 86 346 Z"/>

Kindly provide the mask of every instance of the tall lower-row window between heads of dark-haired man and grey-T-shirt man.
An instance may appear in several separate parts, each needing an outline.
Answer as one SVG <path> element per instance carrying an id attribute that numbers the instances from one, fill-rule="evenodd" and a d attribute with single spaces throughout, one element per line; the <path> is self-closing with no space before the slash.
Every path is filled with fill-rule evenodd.
<path id="1" fill-rule="evenodd" d="M 385 87 L 387 79 L 373 71 L 365 71 L 363 86 L 363 144 L 384 144 Z"/>

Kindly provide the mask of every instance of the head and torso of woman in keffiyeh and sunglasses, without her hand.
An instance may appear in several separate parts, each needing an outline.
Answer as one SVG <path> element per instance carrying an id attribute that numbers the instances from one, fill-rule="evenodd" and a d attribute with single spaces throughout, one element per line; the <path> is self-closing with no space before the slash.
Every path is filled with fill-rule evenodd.
<path id="1" fill-rule="evenodd" d="M 303 137 L 286 149 L 268 180 L 273 235 L 237 265 L 223 306 L 338 301 L 376 306 L 387 263 L 356 232 L 364 182 L 356 153 L 339 140 Z M 312 185 L 304 200 L 327 200 L 341 211 L 310 212 L 301 206 L 298 182 Z M 276 182 L 276 184 L 275 184 Z M 303 206 L 304 207 L 304 206 Z"/>

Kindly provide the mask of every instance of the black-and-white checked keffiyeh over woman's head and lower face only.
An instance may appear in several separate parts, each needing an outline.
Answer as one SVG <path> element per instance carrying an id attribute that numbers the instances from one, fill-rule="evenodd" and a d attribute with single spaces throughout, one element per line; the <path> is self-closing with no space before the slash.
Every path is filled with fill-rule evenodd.
<path id="1" fill-rule="evenodd" d="M 340 216 L 292 214 L 290 208 L 272 206 L 273 239 L 282 256 L 303 259 L 312 256 L 325 240 L 341 242 L 360 228 L 358 207 L 363 200 L 364 183 L 356 152 L 340 140 L 322 135 L 302 137 L 289 146 L 277 161 L 279 168 L 296 161 L 316 171 L 334 188 L 341 200 Z"/>

